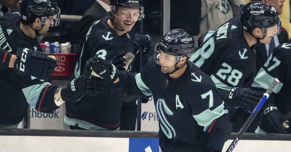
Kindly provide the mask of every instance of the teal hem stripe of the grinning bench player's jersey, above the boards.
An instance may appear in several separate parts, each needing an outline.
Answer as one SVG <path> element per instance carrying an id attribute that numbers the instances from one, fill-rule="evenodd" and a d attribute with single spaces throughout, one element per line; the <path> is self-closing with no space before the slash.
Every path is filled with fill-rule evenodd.
<path id="1" fill-rule="evenodd" d="M 65 116 L 64 122 L 65 122 L 65 124 L 68 124 L 70 126 L 74 126 L 75 124 L 79 124 L 78 127 L 88 129 L 88 130 L 109 130 L 109 129 L 105 129 L 105 128 L 96 126 L 94 124 L 91 124 L 91 123 L 83 121 L 83 120 L 68 118 L 67 116 Z M 119 128 L 120 127 L 118 127 L 115 130 L 119 130 Z"/>

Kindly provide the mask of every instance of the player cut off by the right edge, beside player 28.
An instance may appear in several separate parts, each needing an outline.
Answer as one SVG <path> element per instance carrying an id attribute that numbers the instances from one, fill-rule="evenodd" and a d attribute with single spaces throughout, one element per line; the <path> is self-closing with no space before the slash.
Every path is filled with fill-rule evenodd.
<path id="1" fill-rule="evenodd" d="M 276 47 L 260 69 L 252 85 L 253 89 L 266 91 L 271 79 L 278 78 L 273 93 L 250 126 L 255 133 L 290 133 L 282 126 L 281 118 L 291 111 L 291 43 Z M 289 126 L 289 122 L 286 122 Z"/>

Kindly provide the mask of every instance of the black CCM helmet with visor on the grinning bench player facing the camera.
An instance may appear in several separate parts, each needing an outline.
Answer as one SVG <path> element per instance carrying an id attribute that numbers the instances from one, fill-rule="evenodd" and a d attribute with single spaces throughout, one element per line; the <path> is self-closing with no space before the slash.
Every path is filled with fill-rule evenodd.
<path id="1" fill-rule="evenodd" d="M 143 18 L 143 0 L 136 0 L 136 1 L 130 1 L 130 0 L 110 0 L 110 5 L 113 6 L 111 13 L 121 19 L 127 19 L 130 21 L 139 21 Z M 129 11 L 124 11 L 121 14 L 116 14 L 119 7 L 123 8 L 138 8 L 138 12 L 132 12 L 130 14 Z M 132 18 L 128 18 L 128 17 Z"/>

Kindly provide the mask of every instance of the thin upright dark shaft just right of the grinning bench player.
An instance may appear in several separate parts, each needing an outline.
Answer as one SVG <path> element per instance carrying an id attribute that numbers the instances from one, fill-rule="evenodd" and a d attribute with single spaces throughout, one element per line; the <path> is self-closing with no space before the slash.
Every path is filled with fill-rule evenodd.
<path id="1" fill-rule="evenodd" d="M 142 20 L 140 21 L 140 32 L 141 32 L 141 35 L 143 34 L 143 19 L 144 19 L 144 16 L 142 18 Z M 139 52 L 140 52 L 140 56 L 142 57 L 142 48 L 139 48 Z M 142 65 L 141 65 L 141 57 L 140 57 L 140 71 L 141 71 L 141 68 L 142 68 Z M 137 98 L 137 115 L 136 115 L 136 131 L 141 131 L 141 97 Z"/>

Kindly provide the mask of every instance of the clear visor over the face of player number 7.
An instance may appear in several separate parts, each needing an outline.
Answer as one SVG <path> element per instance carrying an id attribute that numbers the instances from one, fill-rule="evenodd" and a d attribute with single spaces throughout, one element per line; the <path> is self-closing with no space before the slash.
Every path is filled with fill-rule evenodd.
<path id="1" fill-rule="evenodd" d="M 180 62 L 182 59 L 182 56 L 168 55 L 164 53 L 162 50 L 160 50 L 159 44 L 157 44 L 155 47 L 155 52 L 154 52 L 154 59 L 157 64 L 170 67 Z"/>

